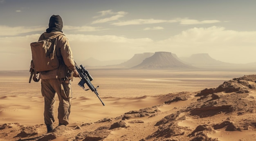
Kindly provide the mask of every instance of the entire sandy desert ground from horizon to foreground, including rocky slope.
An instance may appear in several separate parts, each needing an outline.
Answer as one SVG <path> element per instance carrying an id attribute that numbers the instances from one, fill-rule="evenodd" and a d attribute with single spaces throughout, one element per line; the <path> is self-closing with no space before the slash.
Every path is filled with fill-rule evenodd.
<path id="1" fill-rule="evenodd" d="M 72 82 L 70 124 L 46 133 L 40 82 L 0 71 L 0 141 L 255 141 L 254 72 L 90 69 L 103 106 Z"/>

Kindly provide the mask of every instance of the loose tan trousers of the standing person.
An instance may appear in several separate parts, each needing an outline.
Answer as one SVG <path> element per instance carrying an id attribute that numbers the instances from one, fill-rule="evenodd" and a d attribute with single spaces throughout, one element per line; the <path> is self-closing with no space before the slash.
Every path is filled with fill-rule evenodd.
<path id="1" fill-rule="evenodd" d="M 45 125 L 49 126 L 54 123 L 54 105 L 56 101 L 55 94 L 59 99 L 58 105 L 58 121 L 59 124 L 69 124 L 68 117 L 71 108 L 71 84 L 70 81 L 65 82 L 60 79 L 41 80 L 41 91 L 45 98 L 44 119 Z"/>

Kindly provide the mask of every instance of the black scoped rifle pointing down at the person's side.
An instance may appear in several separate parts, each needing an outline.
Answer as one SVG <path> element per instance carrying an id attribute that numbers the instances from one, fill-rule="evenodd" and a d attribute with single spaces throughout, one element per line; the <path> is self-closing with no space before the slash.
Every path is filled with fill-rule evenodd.
<path id="1" fill-rule="evenodd" d="M 88 87 L 97 95 L 97 97 L 99 98 L 99 100 L 101 101 L 101 103 L 103 104 L 103 106 L 105 106 L 105 104 L 102 102 L 101 98 L 99 97 L 99 93 L 97 91 L 97 88 L 99 88 L 99 86 L 97 86 L 96 88 L 94 88 L 94 86 L 92 85 L 91 81 L 93 80 L 92 76 L 89 74 L 89 72 L 85 69 L 85 67 L 83 67 L 83 65 L 76 66 L 76 70 L 80 75 L 80 79 L 81 81 L 78 83 L 78 85 L 80 87 L 82 87 L 85 91 L 88 91 L 89 89 L 85 89 L 84 84 L 86 83 L 88 85 Z"/>

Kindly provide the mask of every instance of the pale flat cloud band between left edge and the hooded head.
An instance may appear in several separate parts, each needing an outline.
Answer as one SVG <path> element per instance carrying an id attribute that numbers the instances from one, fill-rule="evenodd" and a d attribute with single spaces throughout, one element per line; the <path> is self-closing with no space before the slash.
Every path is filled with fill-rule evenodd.
<path id="1" fill-rule="evenodd" d="M 1 26 L 0 25 L 0 36 L 13 36 L 13 35 L 20 35 L 22 33 L 30 33 L 34 31 L 43 31 L 45 27 L 42 26 L 32 26 L 32 27 L 25 27 L 25 26 Z"/>

